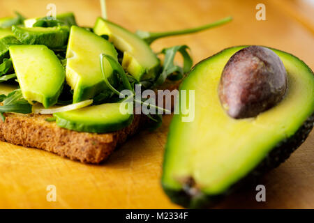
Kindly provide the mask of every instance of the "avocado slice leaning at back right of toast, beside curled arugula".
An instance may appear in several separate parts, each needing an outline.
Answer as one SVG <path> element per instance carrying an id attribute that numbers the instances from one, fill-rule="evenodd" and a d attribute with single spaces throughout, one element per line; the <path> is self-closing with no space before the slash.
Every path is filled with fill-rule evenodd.
<path id="1" fill-rule="evenodd" d="M 137 80 L 156 77 L 159 60 L 151 47 L 134 33 L 98 17 L 94 33 L 109 36 L 110 42 L 124 52 L 122 66 Z"/>

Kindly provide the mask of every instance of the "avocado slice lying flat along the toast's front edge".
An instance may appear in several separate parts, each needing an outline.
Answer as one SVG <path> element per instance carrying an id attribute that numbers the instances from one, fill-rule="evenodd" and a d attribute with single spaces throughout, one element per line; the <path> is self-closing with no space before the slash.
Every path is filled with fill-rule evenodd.
<path id="1" fill-rule="evenodd" d="M 123 103 L 123 102 L 121 102 Z M 122 114 L 121 103 L 108 103 L 84 107 L 68 112 L 54 113 L 56 123 L 61 128 L 77 132 L 114 132 L 133 121 L 133 114 Z"/>

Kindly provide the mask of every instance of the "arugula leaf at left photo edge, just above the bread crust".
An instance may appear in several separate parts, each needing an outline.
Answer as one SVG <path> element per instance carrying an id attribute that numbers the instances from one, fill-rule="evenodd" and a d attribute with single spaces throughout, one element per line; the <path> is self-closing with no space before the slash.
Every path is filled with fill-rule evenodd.
<path id="1" fill-rule="evenodd" d="M 0 95 L 0 100 L 3 102 L 3 105 L 0 106 L 0 117 L 3 121 L 5 120 L 5 116 L 3 116 L 5 112 L 31 113 L 31 105 L 23 98 L 21 89 L 12 91 L 8 96 Z"/>

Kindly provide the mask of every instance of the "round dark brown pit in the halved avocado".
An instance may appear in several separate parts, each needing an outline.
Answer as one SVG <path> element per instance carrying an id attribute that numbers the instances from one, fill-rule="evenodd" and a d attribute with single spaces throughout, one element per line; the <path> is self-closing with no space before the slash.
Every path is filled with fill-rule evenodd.
<path id="1" fill-rule="evenodd" d="M 223 69 L 218 95 L 232 118 L 255 117 L 280 102 L 287 90 L 283 62 L 271 49 L 246 47 Z"/>

